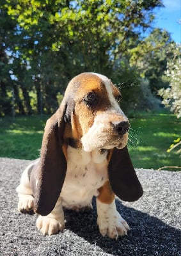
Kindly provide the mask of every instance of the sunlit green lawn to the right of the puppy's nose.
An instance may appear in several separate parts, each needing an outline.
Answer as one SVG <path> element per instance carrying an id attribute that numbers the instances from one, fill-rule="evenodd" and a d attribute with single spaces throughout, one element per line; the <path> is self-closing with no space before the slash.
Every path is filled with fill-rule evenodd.
<path id="1" fill-rule="evenodd" d="M 178 148 L 167 152 L 173 140 L 180 138 L 181 125 L 175 115 L 145 113 L 130 118 L 130 124 L 129 152 L 135 167 L 157 170 L 162 166 L 181 165 Z"/>

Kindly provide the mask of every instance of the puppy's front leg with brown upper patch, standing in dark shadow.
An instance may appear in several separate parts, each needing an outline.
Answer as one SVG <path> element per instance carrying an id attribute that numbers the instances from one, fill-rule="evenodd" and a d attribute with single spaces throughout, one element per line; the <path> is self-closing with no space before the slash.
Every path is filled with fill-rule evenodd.
<path id="1" fill-rule="evenodd" d="M 116 210 L 114 193 L 107 181 L 97 197 L 97 224 L 102 236 L 118 239 L 118 236 L 127 235 L 129 225 Z"/>

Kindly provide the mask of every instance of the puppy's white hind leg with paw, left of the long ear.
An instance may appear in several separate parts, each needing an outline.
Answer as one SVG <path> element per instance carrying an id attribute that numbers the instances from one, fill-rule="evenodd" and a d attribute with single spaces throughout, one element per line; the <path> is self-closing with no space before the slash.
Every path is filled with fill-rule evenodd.
<path id="1" fill-rule="evenodd" d="M 24 170 L 20 178 L 20 184 L 16 189 L 19 195 L 18 211 L 20 212 L 32 211 L 34 207 L 33 192 L 29 181 L 29 176 L 34 165 L 35 163 L 29 164 Z"/>

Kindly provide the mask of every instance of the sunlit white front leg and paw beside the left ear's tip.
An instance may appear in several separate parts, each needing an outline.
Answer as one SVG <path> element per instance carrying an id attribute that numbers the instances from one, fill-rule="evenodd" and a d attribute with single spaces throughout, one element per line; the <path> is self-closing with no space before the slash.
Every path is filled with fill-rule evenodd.
<path id="1" fill-rule="evenodd" d="M 50 214 L 47 216 L 38 216 L 36 227 L 42 232 L 43 236 L 57 234 L 60 230 L 65 228 L 61 197 L 58 198 L 58 201 Z"/>

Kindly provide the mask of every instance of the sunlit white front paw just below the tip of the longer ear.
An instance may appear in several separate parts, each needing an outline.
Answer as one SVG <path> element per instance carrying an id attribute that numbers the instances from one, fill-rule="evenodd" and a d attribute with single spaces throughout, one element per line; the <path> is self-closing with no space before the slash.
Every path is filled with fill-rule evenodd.
<path id="1" fill-rule="evenodd" d="M 36 220 L 36 227 L 42 232 L 43 236 L 57 234 L 65 228 L 64 221 L 57 221 L 48 216 L 39 216 Z"/>

